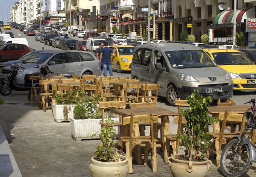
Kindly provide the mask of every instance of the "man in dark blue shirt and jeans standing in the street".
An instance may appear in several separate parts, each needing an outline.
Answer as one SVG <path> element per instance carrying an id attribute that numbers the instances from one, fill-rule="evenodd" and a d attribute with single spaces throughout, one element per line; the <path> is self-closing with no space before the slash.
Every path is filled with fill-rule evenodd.
<path id="1" fill-rule="evenodd" d="M 109 75 L 113 76 L 111 68 L 111 58 L 113 56 L 113 50 L 108 46 L 107 42 L 104 42 L 104 48 L 100 51 L 100 63 L 103 65 L 103 76 L 107 76 L 107 68 L 109 70 Z"/>

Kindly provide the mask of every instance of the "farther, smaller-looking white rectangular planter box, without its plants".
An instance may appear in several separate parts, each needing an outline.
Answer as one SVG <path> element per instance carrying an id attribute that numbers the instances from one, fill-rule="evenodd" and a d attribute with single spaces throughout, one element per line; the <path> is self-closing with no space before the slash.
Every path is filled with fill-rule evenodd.
<path id="1" fill-rule="evenodd" d="M 65 117 L 63 114 L 63 109 L 64 106 L 70 106 L 70 110 L 68 111 L 68 118 L 73 118 L 74 117 L 74 107 L 76 105 L 57 105 L 57 104 L 53 104 L 53 118 L 55 120 L 55 122 L 64 122 Z M 69 120 L 69 119 L 68 119 Z"/>

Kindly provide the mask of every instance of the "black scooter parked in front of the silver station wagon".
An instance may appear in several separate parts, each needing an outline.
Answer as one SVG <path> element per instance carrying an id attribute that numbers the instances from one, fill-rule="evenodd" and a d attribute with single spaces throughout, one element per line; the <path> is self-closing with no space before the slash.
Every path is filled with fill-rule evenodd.
<path id="1" fill-rule="evenodd" d="M 26 64 L 26 61 L 23 61 L 23 63 L 21 65 L 17 65 L 17 64 L 14 65 L 13 63 L 11 63 L 11 69 L 13 69 L 13 70 L 9 73 L 7 79 L 3 80 L 0 83 L 0 93 L 3 96 L 7 96 L 7 95 L 11 94 L 12 90 L 15 90 L 15 91 L 30 90 L 32 87 L 32 82 L 29 79 L 29 76 L 39 76 L 40 74 L 43 76 L 46 76 L 49 73 L 53 74 L 53 72 L 51 72 L 49 70 L 48 66 L 42 66 L 40 68 L 40 66 L 37 65 L 37 67 L 35 67 L 35 68 L 38 68 L 40 70 L 39 74 L 38 73 L 26 74 L 24 76 L 24 80 L 25 80 L 24 85 L 17 85 L 15 77 L 16 77 L 17 73 L 19 72 L 20 68 L 23 68 L 25 70 L 25 68 L 22 66 L 23 64 Z M 33 86 L 39 87 L 38 82 L 35 82 Z M 30 93 L 28 93 L 28 100 L 30 100 Z"/>

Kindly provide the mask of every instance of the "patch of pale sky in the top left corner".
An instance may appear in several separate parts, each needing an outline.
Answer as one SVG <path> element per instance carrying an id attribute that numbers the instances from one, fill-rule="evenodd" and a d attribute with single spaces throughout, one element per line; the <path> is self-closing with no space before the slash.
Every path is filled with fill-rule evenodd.
<path id="1" fill-rule="evenodd" d="M 15 2 L 19 2 L 19 0 L 0 0 L 1 6 L 0 6 L 0 21 L 3 21 L 4 24 L 6 22 L 10 22 L 10 11 L 11 7 L 13 7 L 13 4 Z M 7 7 L 7 8 L 6 8 Z M 1 17 L 2 16 L 2 17 Z M 8 18 L 8 21 L 6 21 L 6 18 Z"/>

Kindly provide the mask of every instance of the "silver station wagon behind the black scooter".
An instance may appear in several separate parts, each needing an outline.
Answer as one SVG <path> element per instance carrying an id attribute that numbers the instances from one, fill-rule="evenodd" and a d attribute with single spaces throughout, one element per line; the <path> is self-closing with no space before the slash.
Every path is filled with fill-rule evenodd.
<path id="1" fill-rule="evenodd" d="M 17 74 L 15 78 L 17 84 L 24 84 L 25 74 L 38 73 L 37 65 L 40 67 L 47 65 L 55 75 L 74 73 L 82 78 L 83 74 L 93 74 L 96 76 L 102 74 L 102 70 L 99 68 L 99 60 L 92 53 L 83 51 L 48 50 L 37 53 L 26 60 L 26 64 L 22 65 L 25 70 L 20 68 L 21 72 Z M 10 66 L 4 67 L 0 77 L 7 78 L 11 70 Z"/>

